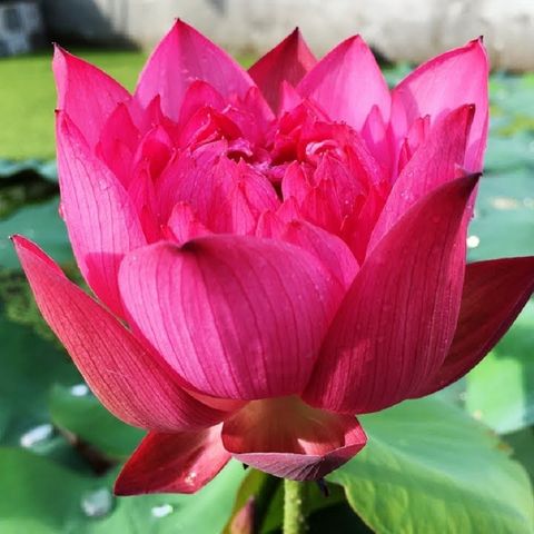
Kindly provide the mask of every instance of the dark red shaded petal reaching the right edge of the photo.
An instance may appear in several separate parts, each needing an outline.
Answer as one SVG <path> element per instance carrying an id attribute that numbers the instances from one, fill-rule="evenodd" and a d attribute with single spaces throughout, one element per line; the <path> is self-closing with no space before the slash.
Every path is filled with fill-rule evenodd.
<path id="1" fill-rule="evenodd" d="M 461 378 L 496 345 L 534 291 L 534 257 L 467 265 L 458 325 L 443 366 L 416 397 Z"/>

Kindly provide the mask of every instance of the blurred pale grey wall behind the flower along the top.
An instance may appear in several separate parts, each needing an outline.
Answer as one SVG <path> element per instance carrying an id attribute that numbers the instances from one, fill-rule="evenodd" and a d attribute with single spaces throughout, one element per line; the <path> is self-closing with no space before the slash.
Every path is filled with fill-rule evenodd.
<path id="1" fill-rule="evenodd" d="M 483 34 L 492 65 L 534 69 L 533 0 L 42 0 L 57 39 L 150 47 L 176 17 L 234 53 L 257 53 L 299 26 L 317 53 L 359 32 L 390 60 L 419 62 Z"/>

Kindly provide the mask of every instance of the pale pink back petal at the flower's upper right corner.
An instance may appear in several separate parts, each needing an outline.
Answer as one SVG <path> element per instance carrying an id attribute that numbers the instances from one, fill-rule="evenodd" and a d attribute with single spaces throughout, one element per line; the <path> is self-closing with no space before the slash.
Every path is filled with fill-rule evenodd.
<path id="1" fill-rule="evenodd" d="M 419 117 L 429 115 L 434 121 L 459 106 L 475 105 L 465 167 L 473 172 L 482 170 L 487 136 L 487 56 L 481 39 L 422 65 L 393 91 L 392 127 L 397 140 Z"/>

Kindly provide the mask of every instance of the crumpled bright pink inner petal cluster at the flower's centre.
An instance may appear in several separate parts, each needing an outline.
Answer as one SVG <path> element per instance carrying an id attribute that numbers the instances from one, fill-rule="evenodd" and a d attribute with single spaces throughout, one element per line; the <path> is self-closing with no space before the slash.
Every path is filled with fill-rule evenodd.
<path id="1" fill-rule="evenodd" d="M 363 260 L 389 187 L 353 128 L 306 99 L 275 117 L 256 88 L 225 99 L 202 81 L 191 83 L 178 116 L 164 115 L 159 97 L 146 108 L 120 105 L 97 145 L 148 243 L 273 237 L 273 220 L 301 220 Z"/>

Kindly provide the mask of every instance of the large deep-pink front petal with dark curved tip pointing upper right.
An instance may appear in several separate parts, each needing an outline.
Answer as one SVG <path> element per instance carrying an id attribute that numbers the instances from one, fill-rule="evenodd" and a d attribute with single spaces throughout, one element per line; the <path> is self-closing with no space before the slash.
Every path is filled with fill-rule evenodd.
<path id="1" fill-rule="evenodd" d="M 464 217 L 476 177 L 417 202 L 360 268 L 322 348 L 306 402 L 366 413 L 414 394 L 442 365 L 459 313 Z"/>

